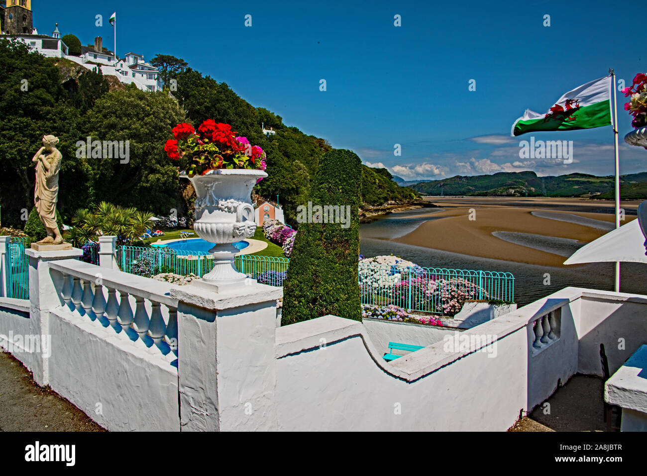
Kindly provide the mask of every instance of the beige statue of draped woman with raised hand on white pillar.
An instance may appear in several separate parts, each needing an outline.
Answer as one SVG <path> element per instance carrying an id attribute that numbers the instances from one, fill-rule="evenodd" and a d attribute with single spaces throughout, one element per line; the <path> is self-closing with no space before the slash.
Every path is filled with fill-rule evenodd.
<path id="1" fill-rule="evenodd" d="M 63 237 L 56 224 L 56 200 L 58 200 L 58 171 L 61 168 L 63 156 L 56 149 L 58 138 L 49 135 L 43 136 L 41 147 L 32 162 L 36 162 L 36 188 L 34 189 L 34 203 L 38 217 L 45 225 L 47 236 L 39 241 L 40 244 L 60 244 Z"/>

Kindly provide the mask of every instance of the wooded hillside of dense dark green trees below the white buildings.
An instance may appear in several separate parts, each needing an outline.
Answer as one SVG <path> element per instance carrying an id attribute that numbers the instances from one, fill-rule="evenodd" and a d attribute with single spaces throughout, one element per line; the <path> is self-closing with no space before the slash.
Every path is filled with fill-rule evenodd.
<path id="1" fill-rule="evenodd" d="M 312 177 L 330 144 L 283 124 L 281 116 L 250 105 L 226 83 L 186 67 L 179 58 L 157 55 L 155 62 L 166 83 L 177 80 L 173 97 L 168 91 L 143 92 L 134 85 L 111 88 L 100 72 L 44 58 L 23 43 L 0 40 L 0 206 L 6 225 L 21 227 L 20 210 L 33 206 L 31 158 L 47 134 L 60 139 L 58 204 L 66 222 L 80 206 L 93 208 L 102 200 L 162 215 L 171 209 L 190 213 L 194 195 L 188 193 L 188 180 L 178 179 L 164 143 L 175 124 L 198 125 L 208 118 L 231 124 L 239 135 L 263 147 L 269 177 L 256 191 L 270 199 L 278 195 L 286 221 L 296 224 L 296 207 L 307 201 Z M 276 135 L 263 135 L 261 124 L 273 127 Z M 88 137 L 129 141 L 128 159 L 83 157 L 83 145 L 76 144 Z M 366 204 L 415 196 L 389 175 L 362 166 Z"/>

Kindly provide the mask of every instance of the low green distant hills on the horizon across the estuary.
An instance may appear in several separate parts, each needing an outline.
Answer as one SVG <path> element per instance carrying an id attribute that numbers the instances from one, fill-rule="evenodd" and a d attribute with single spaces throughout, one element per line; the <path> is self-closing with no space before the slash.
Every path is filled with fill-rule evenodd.
<path id="1" fill-rule="evenodd" d="M 492 175 L 456 175 L 443 180 L 407 184 L 421 195 L 472 197 L 591 197 L 613 199 L 613 175 L 586 173 L 538 177 L 533 171 L 498 172 Z M 647 172 L 620 176 L 623 199 L 647 199 Z"/>

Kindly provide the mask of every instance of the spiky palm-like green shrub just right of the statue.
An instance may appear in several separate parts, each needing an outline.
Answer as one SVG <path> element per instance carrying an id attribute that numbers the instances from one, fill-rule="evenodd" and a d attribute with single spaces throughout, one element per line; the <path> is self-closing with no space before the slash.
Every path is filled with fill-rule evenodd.
<path id="1" fill-rule="evenodd" d="M 117 244 L 128 244 L 138 239 L 153 224 L 155 215 L 136 208 L 124 208 L 101 202 L 93 211 L 85 208 L 76 210 L 72 217 L 70 240 L 74 246 L 96 241 L 99 235 L 115 235 Z"/>

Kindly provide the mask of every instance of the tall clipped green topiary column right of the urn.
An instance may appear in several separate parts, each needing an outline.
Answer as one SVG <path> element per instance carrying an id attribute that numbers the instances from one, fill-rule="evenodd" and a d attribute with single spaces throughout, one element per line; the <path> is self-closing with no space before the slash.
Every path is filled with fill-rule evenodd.
<path id="1" fill-rule="evenodd" d="M 357 281 L 361 164 L 354 152 L 342 149 L 320 162 L 311 203 L 297 209 L 300 224 L 283 283 L 282 325 L 327 314 L 362 318 Z"/>

